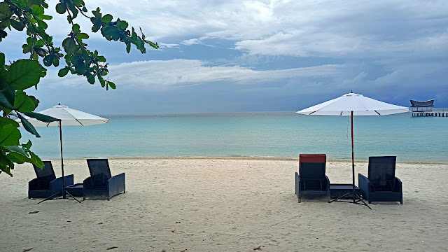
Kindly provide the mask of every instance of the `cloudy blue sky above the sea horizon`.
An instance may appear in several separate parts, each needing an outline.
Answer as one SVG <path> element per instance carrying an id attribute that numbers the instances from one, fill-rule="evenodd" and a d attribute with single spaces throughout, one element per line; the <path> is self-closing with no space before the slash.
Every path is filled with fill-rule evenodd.
<path id="1" fill-rule="evenodd" d="M 48 33 L 62 47 L 70 27 L 58 1 L 48 2 Z M 36 111 L 58 103 L 100 115 L 298 111 L 351 90 L 448 107 L 446 0 L 85 2 L 141 27 L 160 49 L 127 54 L 80 16 L 87 48 L 106 57 L 117 89 L 59 78 L 52 66 L 27 92 L 41 101 Z M 8 31 L 0 51 L 10 62 L 26 58 L 25 39 Z"/>

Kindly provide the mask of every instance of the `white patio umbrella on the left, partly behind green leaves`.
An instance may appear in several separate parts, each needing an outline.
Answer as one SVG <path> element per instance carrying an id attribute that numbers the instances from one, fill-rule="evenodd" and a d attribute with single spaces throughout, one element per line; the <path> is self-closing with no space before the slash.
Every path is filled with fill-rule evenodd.
<path id="1" fill-rule="evenodd" d="M 44 123 L 35 118 L 27 117 L 29 123 L 31 123 L 31 125 L 33 125 L 34 127 L 52 127 L 52 126 L 59 127 L 59 139 L 61 141 L 62 177 L 64 177 L 64 157 L 62 155 L 62 126 L 89 126 L 102 123 L 109 123 L 109 119 L 94 116 L 90 113 L 85 113 L 83 111 L 78 111 L 76 109 L 70 109 L 68 106 L 63 106 L 61 104 L 54 106 L 50 109 L 45 109 L 44 111 L 40 111 L 38 113 L 59 119 L 55 122 Z M 62 179 L 62 190 L 63 191 L 65 190 L 64 179 Z M 65 198 L 65 193 L 62 193 L 62 195 Z"/>

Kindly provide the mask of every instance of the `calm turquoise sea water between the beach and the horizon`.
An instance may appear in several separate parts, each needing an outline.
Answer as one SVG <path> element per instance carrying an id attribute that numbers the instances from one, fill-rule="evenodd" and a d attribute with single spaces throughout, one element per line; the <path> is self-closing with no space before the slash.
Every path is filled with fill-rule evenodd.
<path id="1" fill-rule="evenodd" d="M 109 124 L 62 128 L 64 158 L 276 157 L 326 153 L 350 159 L 348 117 L 291 112 L 104 116 Z M 32 149 L 59 158 L 57 127 L 37 128 Z M 354 118 L 355 159 L 396 155 L 399 161 L 448 162 L 448 118 L 410 113 Z M 26 139 L 30 136 L 22 130 Z"/>

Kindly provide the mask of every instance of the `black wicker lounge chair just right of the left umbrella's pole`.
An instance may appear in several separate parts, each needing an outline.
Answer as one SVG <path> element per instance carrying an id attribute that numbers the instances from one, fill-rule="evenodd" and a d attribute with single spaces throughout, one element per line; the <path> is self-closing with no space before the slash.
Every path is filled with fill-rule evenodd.
<path id="1" fill-rule="evenodd" d="M 90 177 L 84 180 L 84 200 L 110 200 L 111 197 L 123 192 L 125 188 L 125 174 L 111 176 L 109 162 L 106 159 L 88 159 L 87 165 Z"/>

